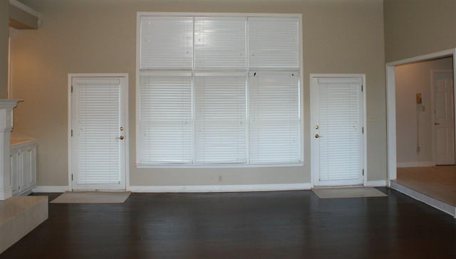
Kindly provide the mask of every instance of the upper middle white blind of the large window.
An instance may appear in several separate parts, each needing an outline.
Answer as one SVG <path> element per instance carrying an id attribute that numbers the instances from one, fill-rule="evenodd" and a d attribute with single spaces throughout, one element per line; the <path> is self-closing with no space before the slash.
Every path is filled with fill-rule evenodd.
<path id="1" fill-rule="evenodd" d="M 246 18 L 195 18 L 197 70 L 245 71 L 246 62 Z"/>

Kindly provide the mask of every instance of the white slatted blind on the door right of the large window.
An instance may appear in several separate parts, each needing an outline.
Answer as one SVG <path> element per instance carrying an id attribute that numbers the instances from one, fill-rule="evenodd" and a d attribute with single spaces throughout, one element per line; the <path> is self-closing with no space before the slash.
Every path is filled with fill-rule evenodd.
<path id="1" fill-rule="evenodd" d="M 318 79 L 320 181 L 357 179 L 361 166 L 361 78 Z"/>

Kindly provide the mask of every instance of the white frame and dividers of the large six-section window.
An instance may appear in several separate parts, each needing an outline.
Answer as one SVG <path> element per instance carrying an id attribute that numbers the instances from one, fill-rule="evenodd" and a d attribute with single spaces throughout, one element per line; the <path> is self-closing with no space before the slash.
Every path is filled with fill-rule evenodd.
<path id="1" fill-rule="evenodd" d="M 203 16 L 203 17 L 243 17 L 248 19 L 249 17 L 264 17 L 264 18 L 295 18 L 299 22 L 299 44 L 298 44 L 298 55 L 299 55 L 299 68 L 296 70 L 289 70 L 289 71 L 296 71 L 299 73 L 299 119 L 300 119 L 300 128 L 299 128 L 299 162 L 297 163 L 249 163 L 249 159 L 247 155 L 247 163 L 216 163 L 216 164 L 198 164 L 195 163 L 140 163 L 139 159 L 140 155 L 138 152 L 140 152 L 140 42 L 141 42 L 141 17 L 142 16 L 162 16 L 162 17 L 170 17 L 170 16 Z M 246 30 L 248 31 L 248 24 Z M 304 161 L 304 63 L 303 63 L 303 36 L 302 36 L 302 14 L 260 14 L 260 13 L 204 13 L 204 12 L 191 12 L 191 13 L 176 13 L 176 12 L 137 12 L 137 23 L 136 23 L 136 61 L 135 61 L 135 126 L 136 126 L 136 136 L 135 136 L 135 152 L 136 152 L 136 159 L 135 159 L 135 166 L 136 168 L 268 168 L 268 167 L 287 167 L 287 166 L 303 166 L 306 161 Z M 247 36 L 248 37 L 248 36 Z M 247 55 L 249 54 L 249 48 L 248 48 L 248 40 L 246 42 L 247 44 Z M 195 51 L 195 49 L 193 50 Z M 194 54 L 195 55 L 195 54 Z M 195 58 L 194 61 L 195 62 Z M 194 73 L 193 71 L 195 70 L 195 64 L 192 68 L 192 71 L 190 73 Z M 264 68 L 261 71 L 263 72 L 284 72 L 283 69 L 279 70 L 274 70 L 274 69 L 269 69 L 269 68 Z M 175 71 L 179 73 L 179 71 Z M 214 72 L 219 72 L 219 73 L 224 73 L 225 71 L 214 71 Z M 242 71 L 239 71 L 242 72 Z M 198 73 L 204 73 L 204 72 L 198 72 Z M 246 74 L 249 73 L 249 66 L 248 66 L 248 61 L 247 61 L 247 70 L 245 71 Z M 192 75 L 194 76 L 194 75 Z M 248 77 L 248 76 L 247 76 Z M 192 86 L 193 88 L 194 86 Z M 248 90 L 248 89 L 247 89 Z M 192 89 L 194 91 L 194 89 Z M 248 93 L 246 92 L 246 109 L 249 108 L 249 101 L 248 101 Z M 195 105 L 195 104 L 194 104 Z M 193 111 L 192 111 L 193 113 Z M 195 116 L 195 115 L 193 115 Z M 194 118 L 195 119 L 195 118 Z M 249 121 L 249 117 L 246 118 L 246 121 Z M 247 141 L 248 141 L 248 131 L 246 132 L 247 134 Z M 195 138 L 195 136 L 193 136 Z M 194 140 L 195 141 L 195 140 Z M 249 146 L 247 142 L 247 146 Z M 194 147 L 195 149 L 195 147 Z M 247 153 L 249 153 L 249 148 L 246 150 Z M 193 155 L 195 157 L 195 154 Z"/>

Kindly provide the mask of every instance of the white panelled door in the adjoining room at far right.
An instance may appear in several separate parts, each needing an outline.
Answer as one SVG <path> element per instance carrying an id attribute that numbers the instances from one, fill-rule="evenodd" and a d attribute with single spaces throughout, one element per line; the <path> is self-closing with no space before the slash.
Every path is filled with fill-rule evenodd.
<path id="1" fill-rule="evenodd" d="M 437 165 L 455 164 L 455 101 L 452 71 L 433 73 L 433 145 Z"/>

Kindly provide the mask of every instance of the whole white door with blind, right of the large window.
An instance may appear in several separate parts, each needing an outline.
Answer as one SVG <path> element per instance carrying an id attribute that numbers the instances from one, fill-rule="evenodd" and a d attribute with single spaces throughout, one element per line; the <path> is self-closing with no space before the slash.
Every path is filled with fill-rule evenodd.
<path id="1" fill-rule="evenodd" d="M 363 77 L 312 77 L 314 186 L 363 183 Z"/>

